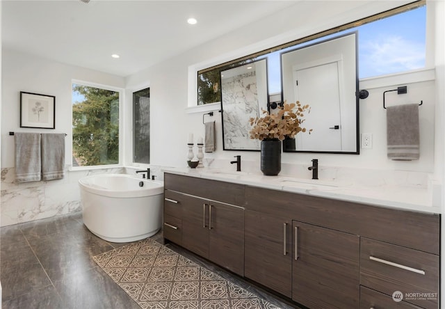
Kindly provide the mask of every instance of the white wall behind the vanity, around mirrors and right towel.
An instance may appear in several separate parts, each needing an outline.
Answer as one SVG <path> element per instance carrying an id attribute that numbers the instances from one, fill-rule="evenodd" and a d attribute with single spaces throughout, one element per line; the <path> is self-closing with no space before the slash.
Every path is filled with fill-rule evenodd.
<path id="1" fill-rule="evenodd" d="M 163 166 L 186 166 L 186 141 L 188 132 L 204 136 L 202 114 L 188 113 L 188 101 L 193 101 L 195 88 L 188 87 L 188 69 L 205 68 L 212 64 L 227 61 L 248 52 L 257 52 L 283 42 L 295 40 L 317 31 L 372 15 L 388 8 L 401 6 L 403 1 L 305 1 L 288 8 L 266 20 L 251 24 L 229 33 L 200 47 L 192 49 L 168 61 L 154 65 L 127 77 L 127 88 L 149 81 L 151 91 L 152 118 L 151 149 L 152 164 Z M 320 9 L 323 7 L 323 10 Z M 443 35 L 442 35 L 443 36 Z M 242 38 L 242 39 L 241 39 Z M 440 35 L 435 40 L 443 41 Z M 443 57 L 443 54 L 442 54 Z M 394 76 L 385 79 L 371 79 L 360 82 L 360 88 L 370 87 L 370 96 L 360 102 L 360 132 L 373 134 L 373 149 L 362 150 L 362 154 L 283 154 L 282 161 L 294 164 L 310 164 L 314 157 L 320 159 L 321 166 L 348 166 L 388 170 L 408 170 L 433 172 L 434 153 L 441 138 L 434 134 L 436 106 L 434 71 L 418 72 L 408 77 Z M 191 74 L 193 79 L 196 74 Z M 432 76 L 432 78 L 431 78 Z M 403 84 L 401 84 L 403 83 Z M 382 93 L 397 86 L 408 86 L 408 95 L 399 95 L 396 100 L 420 102 L 421 106 L 421 159 L 419 161 L 390 161 L 386 155 L 386 117 L 382 109 Z M 129 105 L 128 105 L 129 106 Z M 213 106 L 218 111 L 219 106 Z M 243 160 L 258 161 L 259 152 L 223 151 L 220 114 L 216 116 L 217 151 L 205 154 L 207 158 L 229 161 L 236 154 Z M 435 141 L 436 138 L 436 141 Z M 439 140 L 439 141 L 438 141 Z M 442 176 L 441 176 L 442 177 Z"/>

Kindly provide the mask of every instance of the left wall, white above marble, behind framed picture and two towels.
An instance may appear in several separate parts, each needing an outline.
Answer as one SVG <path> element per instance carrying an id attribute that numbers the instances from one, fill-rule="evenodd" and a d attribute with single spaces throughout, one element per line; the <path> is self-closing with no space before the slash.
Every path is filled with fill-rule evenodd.
<path id="1" fill-rule="evenodd" d="M 3 49 L 1 104 L 1 221 L 12 225 L 79 212 L 80 193 L 77 181 L 90 173 L 120 173 L 122 168 L 95 171 L 67 171 L 63 180 L 15 183 L 14 137 L 8 132 L 64 132 L 67 165 L 72 149 L 72 79 L 124 87 L 124 78 L 85 68 L 36 58 L 29 54 Z M 19 127 L 19 93 L 26 91 L 56 97 L 56 129 Z"/>

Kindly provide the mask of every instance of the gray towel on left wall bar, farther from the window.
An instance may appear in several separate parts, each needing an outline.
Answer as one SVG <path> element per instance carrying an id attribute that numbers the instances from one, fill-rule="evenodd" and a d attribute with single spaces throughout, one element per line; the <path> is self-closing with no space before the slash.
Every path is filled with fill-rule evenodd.
<path id="1" fill-rule="evenodd" d="M 15 182 L 37 182 L 40 180 L 40 133 L 14 134 Z"/>

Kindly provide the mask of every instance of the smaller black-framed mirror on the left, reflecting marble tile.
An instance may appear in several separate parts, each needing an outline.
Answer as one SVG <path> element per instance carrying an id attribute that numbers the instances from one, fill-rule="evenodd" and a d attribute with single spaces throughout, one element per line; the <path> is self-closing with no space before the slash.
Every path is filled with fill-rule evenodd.
<path id="1" fill-rule="evenodd" d="M 260 150 L 249 119 L 267 110 L 267 72 L 266 58 L 220 71 L 224 150 Z"/>

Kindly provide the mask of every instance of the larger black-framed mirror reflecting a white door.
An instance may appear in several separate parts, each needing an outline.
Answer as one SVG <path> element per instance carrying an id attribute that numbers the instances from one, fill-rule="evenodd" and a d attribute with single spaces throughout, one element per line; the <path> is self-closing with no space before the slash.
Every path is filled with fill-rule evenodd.
<path id="1" fill-rule="evenodd" d="M 357 32 L 282 52 L 282 100 L 311 106 L 296 148 L 358 154 Z"/>

